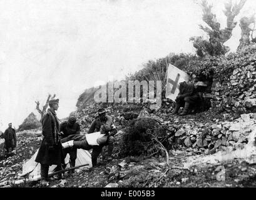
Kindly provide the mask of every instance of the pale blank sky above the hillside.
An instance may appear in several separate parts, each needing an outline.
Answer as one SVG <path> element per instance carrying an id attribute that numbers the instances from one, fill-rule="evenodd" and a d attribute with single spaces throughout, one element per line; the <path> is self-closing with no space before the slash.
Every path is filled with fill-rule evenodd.
<path id="1" fill-rule="evenodd" d="M 76 110 L 84 89 L 121 80 L 149 59 L 169 53 L 195 53 L 192 36 L 205 36 L 198 24 L 197 0 L 0 0 L 0 130 L 15 128 L 48 93 L 59 98 L 59 118 Z M 224 2 L 213 12 L 225 27 Z M 233 0 L 235 2 L 235 0 Z M 240 14 L 256 12 L 247 0 Z M 227 42 L 239 44 L 240 27 Z"/>

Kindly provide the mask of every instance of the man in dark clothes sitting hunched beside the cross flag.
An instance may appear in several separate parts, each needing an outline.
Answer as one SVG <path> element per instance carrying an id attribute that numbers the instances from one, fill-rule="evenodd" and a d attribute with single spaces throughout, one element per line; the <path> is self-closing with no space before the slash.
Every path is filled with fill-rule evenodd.
<path id="1" fill-rule="evenodd" d="M 181 116 L 187 115 L 188 111 L 200 101 L 200 95 L 197 91 L 197 86 L 192 83 L 186 83 L 185 81 L 180 83 L 180 93 L 175 99 L 176 106 L 172 114 L 178 114 L 180 107 L 184 106 Z"/>

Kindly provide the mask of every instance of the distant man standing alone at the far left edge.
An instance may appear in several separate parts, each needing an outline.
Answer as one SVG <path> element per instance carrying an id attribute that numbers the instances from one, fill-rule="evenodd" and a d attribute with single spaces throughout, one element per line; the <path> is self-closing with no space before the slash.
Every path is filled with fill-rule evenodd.
<path id="1" fill-rule="evenodd" d="M 9 126 L 8 129 L 4 131 L 4 148 L 9 154 L 10 149 L 11 151 L 13 151 L 14 148 L 16 148 L 17 139 L 16 139 L 16 131 L 15 129 L 12 128 L 13 124 L 9 123 L 8 126 Z"/>

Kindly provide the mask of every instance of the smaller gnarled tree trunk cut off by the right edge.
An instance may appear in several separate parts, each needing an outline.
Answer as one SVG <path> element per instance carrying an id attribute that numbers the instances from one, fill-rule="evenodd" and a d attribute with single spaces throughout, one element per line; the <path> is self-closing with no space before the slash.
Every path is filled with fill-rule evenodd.
<path id="1" fill-rule="evenodd" d="M 253 29 L 250 28 L 251 24 L 254 24 Z M 255 14 L 251 17 L 242 17 L 239 26 L 241 27 L 241 39 L 239 40 L 240 44 L 238 49 L 242 49 L 251 42 L 256 42 L 256 37 L 253 38 L 253 31 L 255 31 Z"/>

